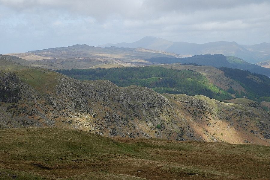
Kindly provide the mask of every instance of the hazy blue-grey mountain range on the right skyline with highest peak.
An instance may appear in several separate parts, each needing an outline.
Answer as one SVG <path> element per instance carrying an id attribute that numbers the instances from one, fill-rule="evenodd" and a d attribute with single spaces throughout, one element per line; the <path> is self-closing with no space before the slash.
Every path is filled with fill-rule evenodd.
<path id="1" fill-rule="evenodd" d="M 98 47 L 125 47 L 146 48 L 174 52 L 184 57 L 200 54 L 223 54 L 224 56 L 236 56 L 247 62 L 256 63 L 270 59 L 270 44 L 263 42 L 256 45 L 239 45 L 236 42 L 208 42 L 196 44 L 189 42 L 172 42 L 166 39 L 147 36 L 132 43 L 104 44 Z"/>

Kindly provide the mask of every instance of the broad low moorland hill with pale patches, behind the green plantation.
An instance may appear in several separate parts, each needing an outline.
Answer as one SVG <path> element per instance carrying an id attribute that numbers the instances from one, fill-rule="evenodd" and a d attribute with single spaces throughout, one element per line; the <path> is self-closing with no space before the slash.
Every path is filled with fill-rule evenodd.
<path id="1" fill-rule="evenodd" d="M 149 62 L 145 61 L 145 59 L 152 57 L 181 57 L 179 54 L 160 50 L 117 47 L 100 48 L 85 44 L 5 55 L 23 65 L 50 69 L 141 66 L 149 65 Z M 21 59 L 18 59 L 18 57 Z"/>

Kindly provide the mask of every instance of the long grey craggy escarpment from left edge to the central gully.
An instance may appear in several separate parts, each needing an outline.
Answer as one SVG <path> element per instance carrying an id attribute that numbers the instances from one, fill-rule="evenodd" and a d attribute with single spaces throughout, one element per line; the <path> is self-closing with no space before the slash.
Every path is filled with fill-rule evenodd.
<path id="1" fill-rule="evenodd" d="M 170 101 L 151 89 L 118 87 L 107 80 L 81 82 L 52 73 L 55 86 L 49 91 L 37 90 L 13 73 L 2 77 L 1 88 L 16 98 L 2 100 L 1 128 L 57 126 L 107 136 L 165 139 L 177 139 L 173 129 L 182 129 Z M 185 139 L 199 140 L 199 135 L 181 138 Z"/>

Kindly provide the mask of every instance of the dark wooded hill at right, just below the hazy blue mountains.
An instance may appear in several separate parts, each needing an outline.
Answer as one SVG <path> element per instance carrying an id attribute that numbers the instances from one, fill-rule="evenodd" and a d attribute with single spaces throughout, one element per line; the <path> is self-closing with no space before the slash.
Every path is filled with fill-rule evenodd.
<path id="1" fill-rule="evenodd" d="M 241 58 L 238 57 L 225 57 L 222 54 L 205 54 L 205 55 L 196 55 L 192 57 L 184 57 L 184 58 L 151 58 L 147 59 L 147 61 L 153 63 L 160 64 L 172 64 L 172 63 L 195 63 L 198 65 L 208 65 L 214 66 L 216 68 L 220 67 L 228 67 L 228 68 L 238 68 L 242 70 L 247 70 L 252 73 L 263 74 L 266 76 L 270 76 L 270 69 L 264 68 L 255 64 L 250 64 Z"/>

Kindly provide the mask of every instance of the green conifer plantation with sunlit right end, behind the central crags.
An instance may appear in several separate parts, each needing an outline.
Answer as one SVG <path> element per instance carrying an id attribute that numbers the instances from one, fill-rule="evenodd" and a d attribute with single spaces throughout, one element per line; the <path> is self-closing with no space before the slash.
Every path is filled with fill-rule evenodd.
<path id="1" fill-rule="evenodd" d="M 157 66 L 60 69 L 57 72 L 78 80 L 110 80 L 117 86 L 146 86 L 158 93 L 202 94 L 216 100 L 231 99 L 231 95 L 210 83 L 202 74 L 191 70 L 176 70 Z"/>

